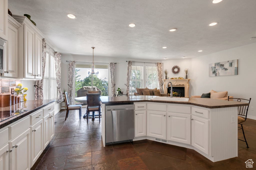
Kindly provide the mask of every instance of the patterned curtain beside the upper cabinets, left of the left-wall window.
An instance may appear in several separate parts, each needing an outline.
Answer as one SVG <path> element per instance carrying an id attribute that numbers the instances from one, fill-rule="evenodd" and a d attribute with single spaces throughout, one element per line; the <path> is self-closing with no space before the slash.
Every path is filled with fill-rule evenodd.
<path id="1" fill-rule="evenodd" d="M 45 61 L 46 61 L 46 41 L 42 39 L 42 80 L 36 81 L 35 86 L 35 100 L 44 100 L 43 83 L 45 75 Z"/>

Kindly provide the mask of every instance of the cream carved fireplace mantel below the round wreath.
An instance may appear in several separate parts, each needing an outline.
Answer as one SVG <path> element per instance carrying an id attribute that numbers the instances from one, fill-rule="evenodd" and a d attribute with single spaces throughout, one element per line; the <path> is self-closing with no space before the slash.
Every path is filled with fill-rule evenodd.
<path id="1" fill-rule="evenodd" d="M 183 87 L 185 87 L 185 98 L 188 98 L 188 90 L 189 90 L 189 80 L 190 79 L 163 79 L 164 81 L 164 93 L 167 93 L 167 88 L 166 88 L 166 84 L 170 81 L 172 82 L 173 86 L 180 86 L 183 85 Z M 170 86 L 170 84 L 169 84 Z"/>

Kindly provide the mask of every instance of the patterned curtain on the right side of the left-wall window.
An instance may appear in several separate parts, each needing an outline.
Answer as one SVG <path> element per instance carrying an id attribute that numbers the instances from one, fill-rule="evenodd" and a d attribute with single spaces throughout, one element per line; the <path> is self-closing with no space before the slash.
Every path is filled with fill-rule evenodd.
<path id="1" fill-rule="evenodd" d="M 60 89 L 60 77 L 61 77 L 61 55 L 59 52 L 54 52 L 55 58 L 55 71 L 56 71 L 56 82 L 58 88 L 58 103 L 63 101 L 62 92 Z"/>

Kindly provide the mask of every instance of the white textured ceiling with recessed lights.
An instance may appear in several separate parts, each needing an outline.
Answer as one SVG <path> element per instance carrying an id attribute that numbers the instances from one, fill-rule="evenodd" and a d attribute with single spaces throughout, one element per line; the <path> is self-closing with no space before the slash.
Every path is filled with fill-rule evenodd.
<path id="1" fill-rule="evenodd" d="M 8 0 L 60 53 L 193 58 L 256 42 L 256 1 Z M 71 13 L 77 19 L 69 19 Z M 216 26 L 208 26 L 218 22 Z M 130 28 L 129 23 L 136 27 Z M 177 28 L 170 32 L 169 29 Z M 167 48 L 163 49 L 162 47 Z M 203 52 L 197 52 L 203 50 Z"/>

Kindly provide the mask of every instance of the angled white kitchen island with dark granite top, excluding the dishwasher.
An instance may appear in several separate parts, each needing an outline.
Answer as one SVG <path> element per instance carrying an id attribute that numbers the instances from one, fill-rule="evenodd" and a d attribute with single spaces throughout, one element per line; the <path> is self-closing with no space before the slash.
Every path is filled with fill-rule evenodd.
<path id="1" fill-rule="evenodd" d="M 206 98 L 189 98 L 188 102 L 151 100 L 154 97 L 119 96 L 102 100 L 104 146 L 105 107 L 133 104 L 133 141 L 149 139 L 194 149 L 212 162 L 238 155 L 237 107 L 248 103 Z"/>

